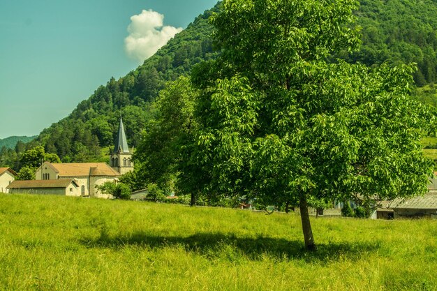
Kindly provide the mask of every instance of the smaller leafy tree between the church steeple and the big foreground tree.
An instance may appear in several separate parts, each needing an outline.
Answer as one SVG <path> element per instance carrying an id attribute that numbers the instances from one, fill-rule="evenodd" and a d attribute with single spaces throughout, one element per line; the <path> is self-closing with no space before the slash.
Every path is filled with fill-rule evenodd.
<path id="1" fill-rule="evenodd" d="M 188 77 L 168 82 L 154 102 L 156 117 L 147 124 L 134 155 L 137 166 L 134 174 L 144 184 L 176 187 L 180 193 L 187 193 L 188 189 L 191 205 L 195 204 L 197 191 L 191 191 L 189 186 L 195 183 L 184 172 L 188 165 L 181 167 L 181 163 L 190 154 L 188 145 L 193 142 L 197 128 L 193 119 L 197 96 L 198 91 L 191 87 Z"/>

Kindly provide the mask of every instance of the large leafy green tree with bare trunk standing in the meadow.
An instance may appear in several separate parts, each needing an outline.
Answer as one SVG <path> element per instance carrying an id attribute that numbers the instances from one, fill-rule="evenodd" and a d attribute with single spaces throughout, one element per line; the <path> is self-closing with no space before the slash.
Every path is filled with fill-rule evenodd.
<path id="1" fill-rule="evenodd" d="M 202 189 L 299 205 L 310 250 L 311 202 L 420 195 L 432 171 L 428 115 L 408 96 L 413 66 L 326 61 L 357 49 L 355 8 L 224 0 L 212 17 L 221 57 L 193 71 L 201 129 L 189 158 L 209 174 Z"/>

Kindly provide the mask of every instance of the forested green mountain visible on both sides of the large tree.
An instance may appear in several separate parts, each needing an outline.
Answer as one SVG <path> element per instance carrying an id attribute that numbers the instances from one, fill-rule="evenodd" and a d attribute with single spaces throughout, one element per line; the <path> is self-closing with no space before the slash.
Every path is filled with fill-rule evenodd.
<path id="1" fill-rule="evenodd" d="M 367 65 L 415 62 L 419 68 L 414 76 L 418 86 L 436 82 L 437 1 L 360 2 L 355 14 L 357 24 L 363 27 L 362 50 L 353 54 L 338 52 L 334 57 Z M 120 114 L 129 145 L 135 147 L 147 122 L 154 119 L 152 101 L 165 82 L 188 75 L 195 64 L 218 54 L 213 50 L 212 27 L 207 19 L 219 6 L 220 3 L 198 16 L 144 64 L 119 80 L 112 77 L 105 86 L 98 87 L 68 117 L 43 130 L 27 148 L 41 144 L 47 153 L 57 154 L 64 162 L 105 161 Z M 0 164 L 20 170 L 20 164 L 11 160 L 17 156 L 19 151 L 15 155 L 9 152 L 0 157 Z"/>

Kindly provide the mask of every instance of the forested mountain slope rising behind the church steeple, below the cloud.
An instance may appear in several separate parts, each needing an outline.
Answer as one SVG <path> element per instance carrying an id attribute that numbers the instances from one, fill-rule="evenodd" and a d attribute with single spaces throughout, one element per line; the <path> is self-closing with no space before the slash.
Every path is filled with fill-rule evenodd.
<path id="1" fill-rule="evenodd" d="M 98 160 L 101 148 L 112 145 L 120 114 L 129 145 L 135 146 L 153 117 L 150 101 L 165 82 L 188 75 L 193 65 L 214 57 L 207 22 L 211 13 L 208 10 L 197 17 L 144 64 L 119 80 L 112 77 L 68 117 L 43 130 L 38 140 L 46 151 L 66 162 Z"/>

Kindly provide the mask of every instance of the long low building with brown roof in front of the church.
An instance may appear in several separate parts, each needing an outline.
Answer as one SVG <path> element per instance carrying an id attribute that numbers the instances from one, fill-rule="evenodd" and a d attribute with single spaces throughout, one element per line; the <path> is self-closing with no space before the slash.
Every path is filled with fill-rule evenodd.
<path id="1" fill-rule="evenodd" d="M 79 185 L 73 179 L 13 181 L 9 193 L 80 196 Z"/>

